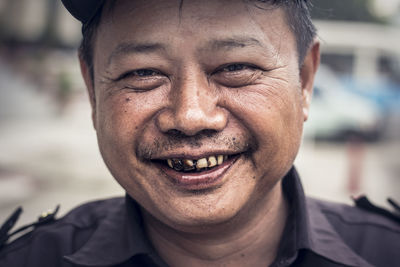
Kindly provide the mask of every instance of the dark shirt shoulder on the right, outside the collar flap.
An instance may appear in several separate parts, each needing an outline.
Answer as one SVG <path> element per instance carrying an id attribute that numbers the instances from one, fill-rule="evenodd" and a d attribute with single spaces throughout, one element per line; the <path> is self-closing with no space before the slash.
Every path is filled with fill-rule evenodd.
<path id="1" fill-rule="evenodd" d="M 344 243 L 369 262 L 400 261 L 400 224 L 356 206 L 307 199 L 310 212 L 320 212 Z M 381 266 L 380 264 L 377 264 Z"/>

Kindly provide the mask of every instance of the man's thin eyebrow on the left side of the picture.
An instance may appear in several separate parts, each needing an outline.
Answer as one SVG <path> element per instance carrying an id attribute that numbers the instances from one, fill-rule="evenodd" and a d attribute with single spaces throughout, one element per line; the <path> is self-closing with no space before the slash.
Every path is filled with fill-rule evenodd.
<path id="1" fill-rule="evenodd" d="M 111 55 L 108 57 L 108 64 L 111 64 L 119 56 L 149 54 L 163 50 L 166 50 L 166 46 L 161 43 L 121 43 L 111 52 Z"/>

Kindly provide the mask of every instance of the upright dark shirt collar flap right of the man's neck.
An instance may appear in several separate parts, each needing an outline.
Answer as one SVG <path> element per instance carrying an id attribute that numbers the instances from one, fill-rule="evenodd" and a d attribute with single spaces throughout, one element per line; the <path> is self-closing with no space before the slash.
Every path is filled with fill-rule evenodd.
<path id="1" fill-rule="evenodd" d="M 321 211 L 318 201 L 305 197 L 294 167 L 283 179 L 282 187 L 290 204 L 290 213 L 275 266 L 293 262 L 301 250 L 345 266 L 372 266 L 344 243 Z"/>

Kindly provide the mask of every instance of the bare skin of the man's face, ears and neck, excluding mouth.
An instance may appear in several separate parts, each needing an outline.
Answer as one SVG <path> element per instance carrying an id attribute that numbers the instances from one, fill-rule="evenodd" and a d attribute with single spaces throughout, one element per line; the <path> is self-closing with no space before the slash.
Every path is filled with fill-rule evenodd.
<path id="1" fill-rule="evenodd" d="M 180 4 L 105 8 L 94 80 L 81 60 L 100 151 L 171 266 L 265 266 L 286 219 L 281 178 L 300 145 L 319 44 L 299 69 L 281 9 Z M 152 161 L 239 153 L 202 190 L 178 186 Z"/>

